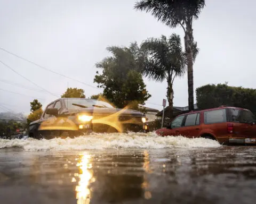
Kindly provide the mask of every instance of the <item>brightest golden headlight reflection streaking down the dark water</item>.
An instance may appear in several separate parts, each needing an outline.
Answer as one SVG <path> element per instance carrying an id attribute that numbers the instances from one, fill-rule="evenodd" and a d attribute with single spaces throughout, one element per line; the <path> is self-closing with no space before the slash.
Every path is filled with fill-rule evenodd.
<path id="1" fill-rule="evenodd" d="M 95 178 L 93 178 L 90 159 L 91 156 L 84 152 L 82 155 L 79 155 L 78 163 L 76 165 L 79 167 L 79 181 L 76 186 L 77 204 L 87 204 L 91 201 L 91 190 L 89 185 L 95 181 Z"/>

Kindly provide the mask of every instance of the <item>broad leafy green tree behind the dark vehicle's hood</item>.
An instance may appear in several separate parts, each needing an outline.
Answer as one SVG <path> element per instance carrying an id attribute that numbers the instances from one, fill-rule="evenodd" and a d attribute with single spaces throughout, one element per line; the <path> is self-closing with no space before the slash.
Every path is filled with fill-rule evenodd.
<path id="1" fill-rule="evenodd" d="M 94 82 L 99 88 L 103 88 L 103 96 L 118 108 L 129 105 L 130 108 L 138 109 L 138 104 L 145 104 L 151 96 L 146 90 L 142 75 L 139 72 L 137 43 L 130 47 L 107 47 L 112 54 L 96 64 L 102 69 L 102 73 L 96 72 Z"/>

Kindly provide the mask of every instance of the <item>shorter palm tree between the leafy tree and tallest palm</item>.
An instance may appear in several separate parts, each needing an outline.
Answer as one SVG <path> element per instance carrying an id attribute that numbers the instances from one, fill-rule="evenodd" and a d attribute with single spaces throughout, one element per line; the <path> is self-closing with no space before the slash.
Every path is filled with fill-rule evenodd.
<path id="1" fill-rule="evenodd" d="M 142 74 L 156 81 L 167 81 L 167 100 L 173 107 L 173 81 L 186 72 L 186 55 L 182 52 L 180 36 L 172 34 L 169 39 L 149 38 L 141 44 L 144 53 Z"/>

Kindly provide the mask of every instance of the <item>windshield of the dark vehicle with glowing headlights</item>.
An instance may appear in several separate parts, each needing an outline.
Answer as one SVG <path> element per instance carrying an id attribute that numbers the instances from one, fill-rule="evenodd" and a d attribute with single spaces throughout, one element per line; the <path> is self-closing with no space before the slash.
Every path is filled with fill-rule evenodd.
<path id="1" fill-rule="evenodd" d="M 76 99 L 64 99 L 66 107 L 68 109 L 83 109 L 89 107 L 95 108 L 114 108 L 110 104 L 101 101 L 101 100 L 94 100 L 94 99 L 86 99 L 86 98 L 76 98 Z"/>

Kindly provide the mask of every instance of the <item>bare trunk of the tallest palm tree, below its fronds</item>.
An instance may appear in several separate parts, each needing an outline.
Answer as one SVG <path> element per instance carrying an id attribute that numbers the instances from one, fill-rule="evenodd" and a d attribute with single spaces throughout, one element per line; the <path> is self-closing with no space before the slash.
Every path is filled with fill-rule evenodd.
<path id="1" fill-rule="evenodd" d="M 188 109 L 194 111 L 194 78 L 193 78 L 193 29 L 191 23 L 188 23 L 185 33 L 185 49 L 187 55 L 188 69 Z"/>

